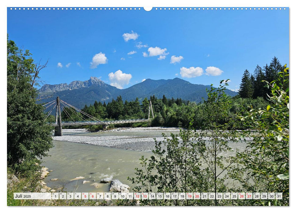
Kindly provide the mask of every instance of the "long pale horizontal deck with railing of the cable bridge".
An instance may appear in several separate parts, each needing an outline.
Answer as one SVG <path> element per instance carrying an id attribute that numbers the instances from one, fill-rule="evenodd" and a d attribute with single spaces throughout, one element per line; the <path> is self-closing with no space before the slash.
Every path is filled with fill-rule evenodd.
<path id="1" fill-rule="evenodd" d="M 62 126 L 81 126 L 81 125 L 110 125 L 110 124 L 127 124 L 137 122 L 147 122 L 149 119 L 131 119 L 131 120 L 107 120 L 107 121 L 66 121 L 62 122 Z M 51 126 L 59 126 L 58 123 L 49 123 Z"/>

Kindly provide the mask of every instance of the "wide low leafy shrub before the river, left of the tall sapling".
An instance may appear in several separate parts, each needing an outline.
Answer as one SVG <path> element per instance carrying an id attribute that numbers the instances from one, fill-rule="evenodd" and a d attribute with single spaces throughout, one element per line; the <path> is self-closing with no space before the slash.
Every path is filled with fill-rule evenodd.
<path id="1" fill-rule="evenodd" d="M 180 142 L 179 138 L 180 137 Z M 200 169 L 198 144 L 191 140 L 191 130 L 180 130 L 163 141 L 156 141 L 154 155 L 140 159 L 143 169 L 136 168 L 136 177 L 128 178 L 136 184 L 136 192 L 191 192 L 206 190 L 207 176 Z M 142 205 L 192 205 L 189 200 L 143 200 Z M 199 201 L 200 203 L 200 201 Z"/>

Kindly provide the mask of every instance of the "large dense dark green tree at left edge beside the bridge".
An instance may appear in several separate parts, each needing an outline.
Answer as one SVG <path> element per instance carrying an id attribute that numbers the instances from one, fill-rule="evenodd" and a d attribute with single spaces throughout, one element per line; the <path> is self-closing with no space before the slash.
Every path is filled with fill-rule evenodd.
<path id="1" fill-rule="evenodd" d="M 36 104 L 40 66 L 30 55 L 7 38 L 7 164 L 17 172 L 36 169 L 36 157 L 53 146 L 44 107 Z"/>

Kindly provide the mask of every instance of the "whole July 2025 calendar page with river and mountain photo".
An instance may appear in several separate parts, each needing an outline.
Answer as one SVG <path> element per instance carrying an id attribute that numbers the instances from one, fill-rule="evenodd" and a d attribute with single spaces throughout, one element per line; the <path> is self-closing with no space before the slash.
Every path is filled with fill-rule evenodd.
<path id="1" fill-rule="evenodd" d="M 289 6 L 179 3 L 7 6 L 7 206 L 289 206 Z"/>

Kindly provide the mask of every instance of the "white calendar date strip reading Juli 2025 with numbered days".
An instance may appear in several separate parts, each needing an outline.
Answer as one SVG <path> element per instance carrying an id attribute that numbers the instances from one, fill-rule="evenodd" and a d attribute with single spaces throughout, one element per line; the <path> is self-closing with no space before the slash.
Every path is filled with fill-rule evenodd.
<path id="1" fill-rule="evenodd" d="M 16 200 L 281 200 L 279 192 L 57 192 L 13 193 Z"/>

